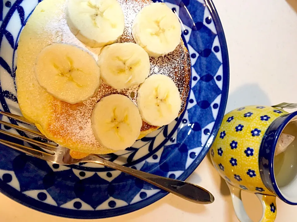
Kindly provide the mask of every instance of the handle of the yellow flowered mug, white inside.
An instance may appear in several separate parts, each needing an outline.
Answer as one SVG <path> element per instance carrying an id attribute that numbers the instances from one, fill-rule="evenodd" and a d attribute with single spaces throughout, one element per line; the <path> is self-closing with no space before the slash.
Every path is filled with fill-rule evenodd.
<path id="1" fill-rule="evenodd" d="M 240 222 L 253 222 L 243 207 L 243 202 L 241 199 L 242 190 L 237 187 L 233 187 L 229 183 L 227 184 L 231 193 L 233 208 L 238 220 Z M 256 196 L 261 201 L 263 208 L 262 218 L 259 222 L 273 222 L 276 218 L 276 196 L 263 194 L 256 194 Z"/>

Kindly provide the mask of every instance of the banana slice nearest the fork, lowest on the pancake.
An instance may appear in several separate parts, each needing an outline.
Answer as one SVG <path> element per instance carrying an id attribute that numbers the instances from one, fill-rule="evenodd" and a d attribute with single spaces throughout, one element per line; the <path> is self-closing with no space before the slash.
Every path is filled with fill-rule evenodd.
<path id="1" fill-rule="evenodd" d="M 142 126 L 136 105 L 123 95 L 102 98 L 93 109 L 92 129 L 98 142 L 112 150 L 124 150 L 133 145 Z"/>

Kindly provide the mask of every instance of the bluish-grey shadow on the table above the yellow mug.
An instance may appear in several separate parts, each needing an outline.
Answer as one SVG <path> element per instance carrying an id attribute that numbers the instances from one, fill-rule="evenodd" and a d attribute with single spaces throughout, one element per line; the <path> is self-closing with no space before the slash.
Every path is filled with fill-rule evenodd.
<path id="1" fill-rule="evenodd" d="M 297 1 L 297 0 L 293 0 Z M 246 84 L 236 88 L 228 96 L 226 113 L 248 105 L 272 105 L 269 97 L 258 84 Z"/>

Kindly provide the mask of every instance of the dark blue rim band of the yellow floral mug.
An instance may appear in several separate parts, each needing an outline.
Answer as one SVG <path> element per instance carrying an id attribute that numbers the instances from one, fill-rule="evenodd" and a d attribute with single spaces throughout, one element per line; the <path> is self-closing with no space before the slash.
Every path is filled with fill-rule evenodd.
<path id="1" fill-rule="evenodd" d="M 297 111 L 283 115 L 275 119 L 266 130 L 259 150 L 259 168 L 261 179 L 263 180 L 264 185 L 271 192 L 276 194 L 282 201 L 290 205 L 297 205 L 297 202 L 291 202 L 290 200 L 286 199 L 286 197 L 282 194 L 277 185 L 274 175 L 274 152 L 282 131 L 284 130 L 286 125 L 291 121 L 291 119 L 296 116 Z M 270 139 L 271 136 L 273 137 L 273 139 Z M 272 142 L 268 142 L 269 140 L 272 140 Z M 267 151 L 267 149 L 269 152 Z M 268 158 L 266 158 L 266 160 L 268 160 L 268 164 L 265 164 L 263 162 L 263 158 L 265 158 L 265 154 L 268 153 Z"/>

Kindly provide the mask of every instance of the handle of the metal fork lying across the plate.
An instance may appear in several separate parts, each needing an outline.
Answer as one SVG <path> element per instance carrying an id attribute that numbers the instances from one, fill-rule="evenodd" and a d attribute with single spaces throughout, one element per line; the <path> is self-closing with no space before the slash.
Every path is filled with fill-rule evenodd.
<path id="1" fill-rule="evenodd" d="M 161 177 L 143 171 L 135 170 L 108 161 L 94 154 L 89 156 L 87 162 L 97 163 L 130 174 L 148 183 L 151 183 L 167 192 L 170 192 L 174 195 L 177 195 L 183 199 L 189 200 L 194 203 L 210 204 L 214 201 L 214 197 L 209 191 L 192 183 L 187 183 L 184 181 L 171 179 L 167 177 Z"/>

